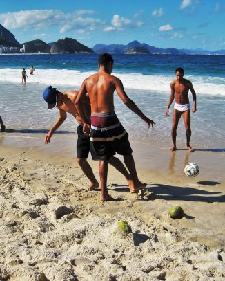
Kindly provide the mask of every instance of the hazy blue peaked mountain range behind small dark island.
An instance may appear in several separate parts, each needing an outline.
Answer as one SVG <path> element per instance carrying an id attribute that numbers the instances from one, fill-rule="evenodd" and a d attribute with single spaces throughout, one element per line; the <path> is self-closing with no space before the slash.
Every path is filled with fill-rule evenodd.
<path id="1" fill-rule="evenodd" d="M 145 43 L 140 43 L 137 40 L 128 43 L 127 45 L 121 44 L 111 44 L 111 45 L 103 45 L 103 44 L 96 44 L 92 50 L 95 53 L 111 53 L 111 54 L 123 54 L 123 53 L 130 53 L 132 52 L 133 48 L 144 48 L 152 54 L 175 54 L 175 55 L 182 55 L 184 52 L 177 50 L 176 48 L 156 48 L 155 46 L 150 46 Z"/>

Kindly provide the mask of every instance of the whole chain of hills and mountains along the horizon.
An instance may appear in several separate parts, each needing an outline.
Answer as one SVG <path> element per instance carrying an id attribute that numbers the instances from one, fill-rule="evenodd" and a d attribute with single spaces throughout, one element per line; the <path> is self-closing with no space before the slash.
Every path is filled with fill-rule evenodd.
<path id="1" fill-rule="evenodd" d="M 207 51 L 177 48 L 157 48 L 137 40 L 123 44 L 96 44 L 88 48 L 76 39 L 63 38 L 57 42 L 46 43 L 32 40 L 20 44 L 15 36 L 0 24 L 0 53 L 111 53 L 111 54 L 162 54 L 162 55 L 225 55 L 225 50 Z"/>

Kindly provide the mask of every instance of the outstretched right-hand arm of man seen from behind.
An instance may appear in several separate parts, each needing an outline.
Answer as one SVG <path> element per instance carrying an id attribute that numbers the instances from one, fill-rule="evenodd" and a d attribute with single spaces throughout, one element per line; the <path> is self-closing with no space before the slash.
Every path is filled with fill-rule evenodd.
<path id="1" fill-rule="evenodd" d="M 126 92 L 124 91 L 124 86 L 119 80 L 119 78 L 115 78 L 115 90 L 117 91 L 117 94 L 119 98 L 124 102 L 124 104 L 128 107 L 128 109 L 132 110 L 139 116 L 144 122 L 147 123 L 147 127 L 150 128 L 151 126 L 155 124 L 153 120 L 150 120 L 147 116 L 144 115 L 144 113 L 137 107 L 135 102 L 133 100 L 130 100 L 130 98 L 127 96 Z"/>

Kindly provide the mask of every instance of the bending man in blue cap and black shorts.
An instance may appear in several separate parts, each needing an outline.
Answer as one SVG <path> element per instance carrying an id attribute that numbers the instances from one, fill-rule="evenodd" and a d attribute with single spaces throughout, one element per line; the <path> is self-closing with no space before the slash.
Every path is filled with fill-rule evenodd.
<path id="1" fill-rule="evenodd" d="M 48 134 L 46 134 L 44 138 L 44 143 L 50 143 L 50 138 L 52 137 L 54 132 L 66 120 L 67 113 L 72 114 L 75 120 L 77 120 L 77 122 L 79 123 L 79 126 L 77 127 L 77 163 L 79 163 L 81 170 L 90 180 L 90 185 L 88 188 L 90 190 L 93 190 L 99 187 L 99 183 L 95 178 L 92 168 L 90 167 L 87 161 L 88 154 L 90 151 L 90 137 L 84 134 L 83 123 L 75 107 L 75 99 L 77 97 L 77 93 L 78 91 L 71 90 L 61 93 L 60 91 L 57 91 L 51 86 L 46 88 L 46 90 L 43 92 L 43 99 L 48 102 L 48 109 L 52 109 L 54 107 L 57 107 L 57 109 L 59 109 L 59 116 L 55 121 L 54 125 L 52 125 Z M 84 96 L 81 99 L 81 103 L 84 109 L 84 115 L 86 116 L 87 120 L 90 120 L 90 100 L 88 96 Z M 118 158 L 113 157 L 110 160 L 110 164 L 113 165 L 113 167 L 115 167 L 119 172 L 121 172 L 121 174 L 126 177 L 128 185 L 131 185 L 130 174 L 127 172 L 123 163 L 121 163 Z"/>

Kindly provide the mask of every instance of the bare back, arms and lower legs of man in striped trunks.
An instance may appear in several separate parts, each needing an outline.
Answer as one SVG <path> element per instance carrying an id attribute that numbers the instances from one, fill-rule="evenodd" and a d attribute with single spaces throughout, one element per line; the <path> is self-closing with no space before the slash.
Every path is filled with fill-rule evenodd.
<path id="1" fill-rule="evenodd" d="M 88 93 L 90 98 L 91 113 L 106 113 L 114 111 L 114 92 L 116 91 L 119 98 L 124 102 L 124 104 L 135 114 L 137 114 L 144 122 L 146 122 L 147 127 L 153 127 L 153 120 L 148 119 L 141 110 L 135 105 L 133 100 L 130 100 L 124 91 L 123 84 L 119 78 L 111 75 L 113 71 L 113 62 L 109 62 L 107 66 L 100 65 L 99 71 L 89 78 L 84 80 L 79 94 L 76 99 L 76 106 L 79 111 L 79 115 L 83 119 L 84 132 L 86 134 L 90 133 L 90 120 L 84 115 L 84 109 L 81 106 L 81 98 Z M 146 187 L 146 184 L 141 183 L 137 176 L 137 171 L 135 168 L 135 161 L 132 154 L 124 156 L 124 163 L 130 172 L 132 179 L 132 185 L 130 185 L 130 193 L 135 193 L 140 189 Z M 108 194 L 107 190 L 107 174 L 108 174 L 108 161 L 99 162 L 99 176 L 101 180 L 101 201 L 107 201 L 112 199 Z"/>

